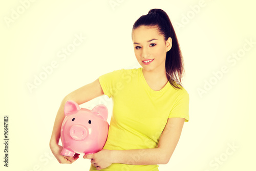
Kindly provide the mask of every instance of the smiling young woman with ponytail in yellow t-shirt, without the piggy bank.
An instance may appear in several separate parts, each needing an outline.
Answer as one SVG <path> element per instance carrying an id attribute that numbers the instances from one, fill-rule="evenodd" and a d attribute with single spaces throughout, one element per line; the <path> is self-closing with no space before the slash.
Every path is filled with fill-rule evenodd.
<path id="1" fill-rule="evenodd" d="M 84 155 L 90 170 L 158 170 L 168 163 L 189 120 L 187 91 L 181 86 L 183 58 L 168 15 L 152 9 L 134 24 L 132 40 L 142 68 L 116 70 L 67 95 L 58 110 L 50 148 L 60 163 L 78 158 L 61 156 L 58 145 L 67 100 L 82 104 L 103 94 L 113 100 L 108 139 L 102 151 Z"/>

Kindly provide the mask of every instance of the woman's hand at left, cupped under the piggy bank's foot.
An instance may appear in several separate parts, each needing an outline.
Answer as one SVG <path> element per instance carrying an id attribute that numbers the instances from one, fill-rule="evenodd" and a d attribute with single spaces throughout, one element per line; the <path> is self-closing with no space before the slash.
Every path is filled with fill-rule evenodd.
<path id="1" fill-rule="evenodd" d="M 76 161 L 80 155 L 80 154 L 75 154 L 73 157 L 62 156 L 62 155 L 60 155 L 62 146 L 60 146 L 58 144 L 50 145 L 50 148 L 51 148 L 53 155 L 55 156 L 55 158 L 58 160 L 59 163 L 71 164 L 74 161 Z"/>

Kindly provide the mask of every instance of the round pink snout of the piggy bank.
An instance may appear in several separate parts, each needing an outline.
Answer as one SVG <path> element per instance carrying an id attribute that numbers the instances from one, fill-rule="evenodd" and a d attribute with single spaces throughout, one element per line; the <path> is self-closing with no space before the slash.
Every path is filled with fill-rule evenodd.
<path id="1" fill-rule="evenodd" d="M 88 130 L 83 125 L 73 125 L 70 129 L 70 136 L 77 141 L 82 141 L 88 135 Z"/>

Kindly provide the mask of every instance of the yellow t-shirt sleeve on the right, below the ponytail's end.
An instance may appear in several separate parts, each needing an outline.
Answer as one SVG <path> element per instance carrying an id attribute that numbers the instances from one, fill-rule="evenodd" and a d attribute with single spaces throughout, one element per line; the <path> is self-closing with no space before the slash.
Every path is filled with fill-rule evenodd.
<path id="1" fill-rule="evenodd" d="M 188 108 L 189 95 L 185 89 L 182 89 L 168 118 L 185 118 L 185 122 L 187 122 L 189 120 Z"/>

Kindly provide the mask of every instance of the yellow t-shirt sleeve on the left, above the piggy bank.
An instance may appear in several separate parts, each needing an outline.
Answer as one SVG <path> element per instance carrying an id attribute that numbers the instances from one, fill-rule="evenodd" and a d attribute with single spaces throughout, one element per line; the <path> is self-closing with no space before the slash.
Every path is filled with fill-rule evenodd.
<path id="1" fill-rule="evenodd" d="M 115 70 L 113 72 L 99 76 L 99 83 L 103 93 L 109 98 L 113 97 L 118 90 L 118 82 L 122 76 L 122 70 Z"/>

